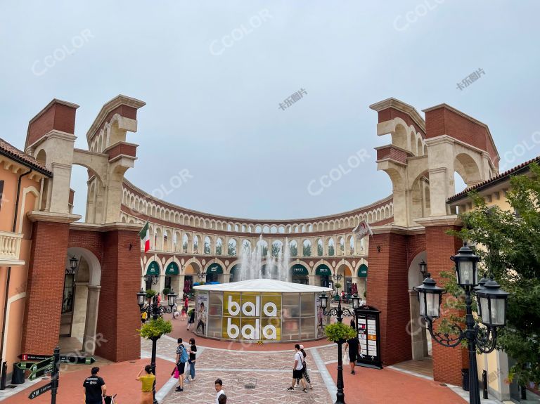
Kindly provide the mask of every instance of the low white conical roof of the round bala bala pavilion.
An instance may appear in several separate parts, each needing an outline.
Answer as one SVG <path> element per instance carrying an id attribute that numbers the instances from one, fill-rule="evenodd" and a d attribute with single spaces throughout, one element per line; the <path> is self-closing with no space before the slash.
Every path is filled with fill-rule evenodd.
<path id="1" fill-rule="evenodd" d="M 330 292 L 329 287 L 302 285 L 300 283 L 283 282 L 273 279 L 252 279 L 240 282 L 221 283 L 219 285 L 194 286 L 195 290 L 211 290 L 213 292 L 281 292 L 281 293 L 313 293 Z"/>

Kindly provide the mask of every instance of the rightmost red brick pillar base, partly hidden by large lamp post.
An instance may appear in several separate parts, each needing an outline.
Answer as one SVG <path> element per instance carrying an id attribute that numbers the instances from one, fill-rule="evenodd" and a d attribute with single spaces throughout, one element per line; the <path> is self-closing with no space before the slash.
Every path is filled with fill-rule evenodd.
<path id="1" fill-rule="evenodd" d="M 441 278 L 441 272 L 451 272 L 454 263 L 450 256 L 456 254 L 461 248 L 461 241 L 455 237 L 446 235 L 446 230 L 459 230 L 457 226 L 436 226 L 425 229 L 427 241 L 428 271 L 431 277 L 437 281 L 439 287 L 444 287 L 444 280 Z M 456 310 L 444 308 L 444 301 L 449 295 L 443 296 L 443 306 L 441 308 L 443 317 L 450 315 L 463 315 Z M 439 325 L 441 320 L 437 320 L 435 325 Z M 461 347 L 447 348 L 437 342 L 432 341 L 433 356 L 433 377 L 437 382 L 444 382 L 461 386 L 461 369 L 468 368 L 468 353 Z"/>

